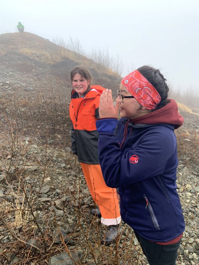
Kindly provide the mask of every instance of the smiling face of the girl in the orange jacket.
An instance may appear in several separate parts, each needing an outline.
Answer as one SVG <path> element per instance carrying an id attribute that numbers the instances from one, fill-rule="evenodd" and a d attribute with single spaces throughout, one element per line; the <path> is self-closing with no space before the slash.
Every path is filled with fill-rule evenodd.
<path id="1" fill-rule="evenodd" d="M 78 93 L 79 97 L 83 96 L 89 84 L 90 84 L 90 80 L 86 80 L 85 78 L 81 77 L 81 75 L 78 73 L 74 74 L 73 80 L 72 80 L 72 86 L 75 92 Z"/>

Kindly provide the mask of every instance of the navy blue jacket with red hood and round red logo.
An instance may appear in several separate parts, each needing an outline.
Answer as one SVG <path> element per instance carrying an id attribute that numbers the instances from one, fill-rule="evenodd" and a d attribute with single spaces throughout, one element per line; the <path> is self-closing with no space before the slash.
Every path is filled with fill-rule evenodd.
<path id="1" fill-rule="evenodd" d="M 170 241 L 185 229 L 175 183 L 174 129 L 182 123 L 174 100 L 133 121 L 107 118 L 96 122 L 106 185 L 119 188 L 122 219 L 151 241 Z"/>

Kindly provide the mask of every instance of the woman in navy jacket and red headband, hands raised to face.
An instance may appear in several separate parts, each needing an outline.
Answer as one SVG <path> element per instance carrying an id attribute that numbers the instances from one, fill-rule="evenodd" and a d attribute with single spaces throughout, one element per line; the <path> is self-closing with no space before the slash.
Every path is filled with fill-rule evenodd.
<path id="1" fill-rule="evenodd" d="M 138 68 L 122 79 L 115 108 L 111 90 L 103 91 L 96 122 L 103 178 L 117 188 L 121 217 L 150 265 L 175 264 L 185 229 L 174 133 L 183 117 L 175 100 L 167 99 L 165 81 L 158 69 Z"/>

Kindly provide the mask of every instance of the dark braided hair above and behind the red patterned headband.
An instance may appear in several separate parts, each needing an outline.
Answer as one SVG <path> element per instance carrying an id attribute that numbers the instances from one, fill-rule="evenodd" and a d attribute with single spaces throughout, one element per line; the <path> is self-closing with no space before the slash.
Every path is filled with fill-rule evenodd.
<path id="1" fill-rule="evenodd" d="M 161 97 L 161 101 L 152 111 L 166 106 L 170 102 L 167 99 L 169 87 L 166 83 L 167 80 L 164 78 L 163 74 L 160 73 L 159 69 L 144 65 L 142 67 L 139 67 L 137 71 L 139 71 L 155 87 Z"/>

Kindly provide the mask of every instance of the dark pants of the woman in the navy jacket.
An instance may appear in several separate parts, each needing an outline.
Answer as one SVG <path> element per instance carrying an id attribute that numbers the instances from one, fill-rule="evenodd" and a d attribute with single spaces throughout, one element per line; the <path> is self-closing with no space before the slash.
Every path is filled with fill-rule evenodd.
<path id="1" fill-rule="evenodd" d="M 134 233 L 150 265 L 175 265 L 181 240 L 172 245 L 159 245 Z"/>

